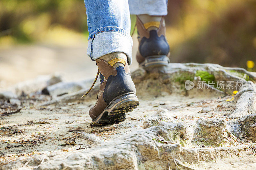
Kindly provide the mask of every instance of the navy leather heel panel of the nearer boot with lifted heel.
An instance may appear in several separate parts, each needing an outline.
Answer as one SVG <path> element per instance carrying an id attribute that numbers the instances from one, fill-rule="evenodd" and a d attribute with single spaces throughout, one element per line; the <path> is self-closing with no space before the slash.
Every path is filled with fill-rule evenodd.
<path id="1" fill-rule="evenodd" d="M 114 98 L 128 92 L 136 92 L 135 85 L 132 81 L 131 75 L 124 71 L 124 67 L 116 68 L 117 75 L 109 76 L 104 92 L 103 98 L 108 105 Z"/>

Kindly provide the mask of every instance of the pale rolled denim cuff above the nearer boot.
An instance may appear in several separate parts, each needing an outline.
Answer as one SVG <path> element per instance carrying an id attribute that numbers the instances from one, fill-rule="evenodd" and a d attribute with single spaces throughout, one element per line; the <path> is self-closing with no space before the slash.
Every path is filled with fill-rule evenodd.
<path id="1" fill-rule="evenodd" d="M 100 27 L 88 39 L 87 55 L 92 61 L 109 53 L 123 52 L 128 63 L 132 63 L 132 37 L 125 30 L 113 26 Z"/>

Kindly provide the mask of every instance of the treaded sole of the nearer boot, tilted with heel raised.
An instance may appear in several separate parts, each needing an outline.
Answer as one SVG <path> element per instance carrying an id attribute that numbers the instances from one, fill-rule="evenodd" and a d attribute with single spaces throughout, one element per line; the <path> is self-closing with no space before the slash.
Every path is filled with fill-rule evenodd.
<path id="1" fill-rule="evenodd" d="M 129 92 L 117 96 L 103 112 L 92 120 L 92 126 L 104 126 L 115 124 L 125 120 L 125 113 L 131 112 L 139 106 L 139 100 L 135 93 Z"/>

